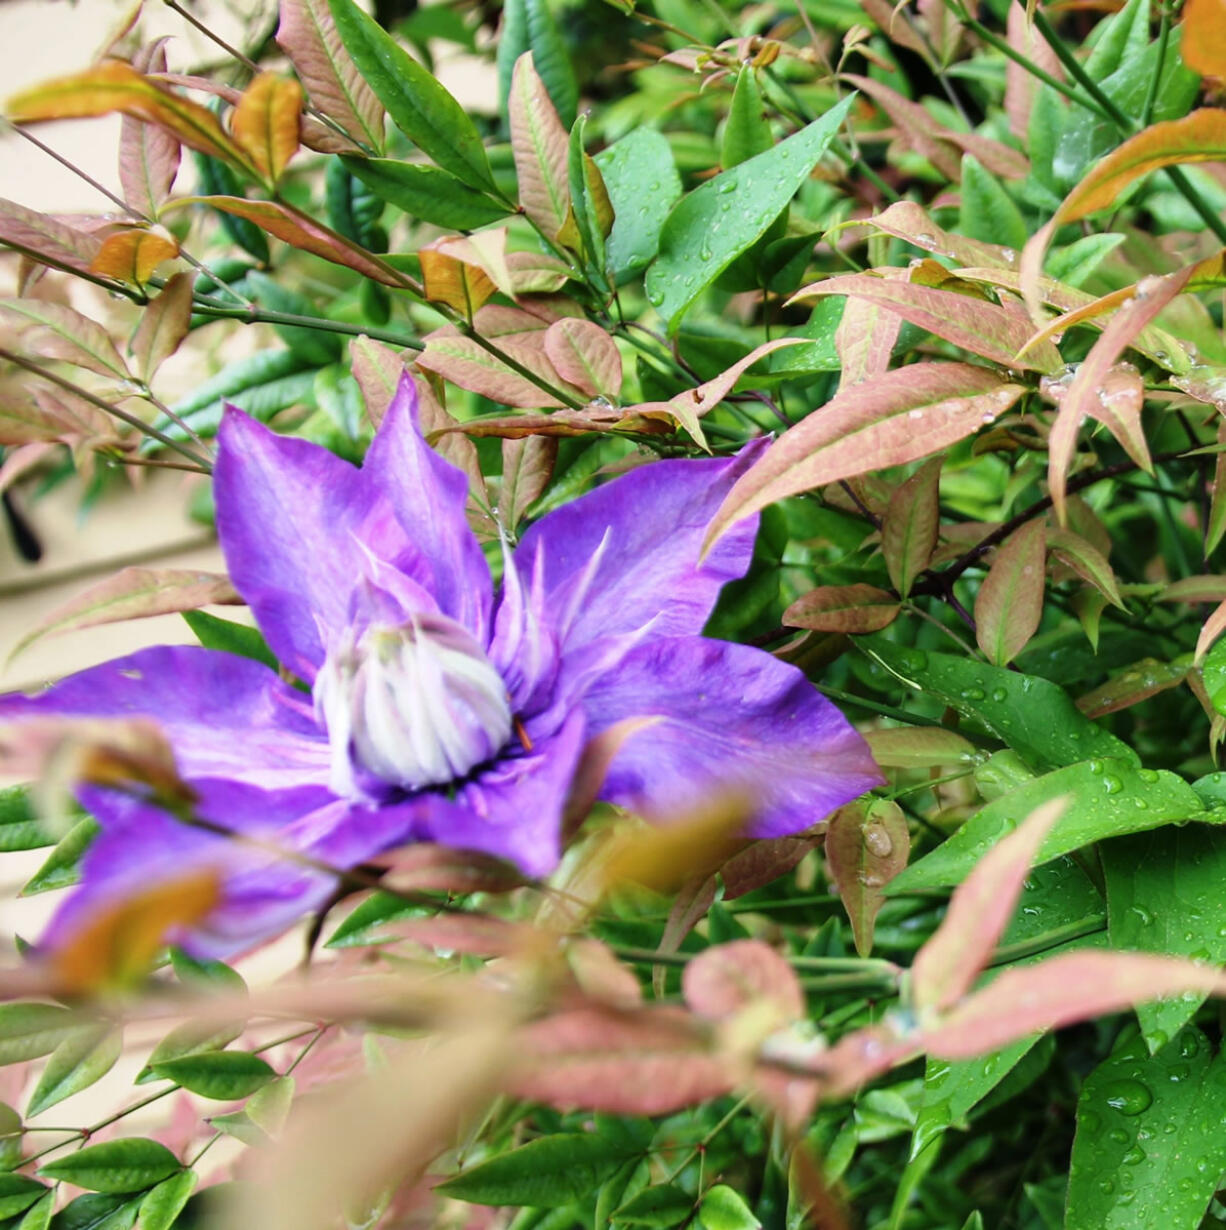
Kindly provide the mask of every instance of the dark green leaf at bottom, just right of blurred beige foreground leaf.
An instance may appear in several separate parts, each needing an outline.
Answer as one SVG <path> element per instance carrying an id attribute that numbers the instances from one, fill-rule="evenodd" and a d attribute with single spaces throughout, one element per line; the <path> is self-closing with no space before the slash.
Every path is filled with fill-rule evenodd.
<path id="1" fill-rule="evenodd" d="M 563 1132 L 461 1171 L 435 1191 L 472 1204 L 561 1208 L 595 1191 L 627 1156 L 605 1137 Z"/>

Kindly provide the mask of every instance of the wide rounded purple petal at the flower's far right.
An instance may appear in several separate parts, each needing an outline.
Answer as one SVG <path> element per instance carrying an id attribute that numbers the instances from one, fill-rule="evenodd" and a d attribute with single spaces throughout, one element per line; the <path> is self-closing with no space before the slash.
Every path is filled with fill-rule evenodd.
<path id="1" fill-rule="evenodd" d="M 600 792 L 653 820 L 740 787 L 761 801 L 754 834 L 785 836 L 883 781 L 864 740 L 799 670 L 743 645 L 653 638 L 584 707 L 590 734 L 662 718 L 626 740 Z"/>

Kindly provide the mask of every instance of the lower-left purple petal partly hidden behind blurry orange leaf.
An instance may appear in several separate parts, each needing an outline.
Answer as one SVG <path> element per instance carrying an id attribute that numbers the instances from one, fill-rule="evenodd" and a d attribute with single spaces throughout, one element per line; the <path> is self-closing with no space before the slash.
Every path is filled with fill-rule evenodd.
<path id="1" fill-rule="evenodd" d="M 263 791 L 203 782 L 197 813 L 268 846 L 347 870 L 409 834 L 417 808 L 355 808 L 318 788 Z M 89 788 L 82 801 L 102 831 L 84 862 L 84 879 L 59 909 L 42 943 L 54 950 L 91 918 L 187 868 L 215 868 L 221 899 L 191 931 L 172 936 L 198 957 L 229 957 L 279 935 L 321 907 L 337 879 L 272 849 L 184 824 L 129 795 Z"/>

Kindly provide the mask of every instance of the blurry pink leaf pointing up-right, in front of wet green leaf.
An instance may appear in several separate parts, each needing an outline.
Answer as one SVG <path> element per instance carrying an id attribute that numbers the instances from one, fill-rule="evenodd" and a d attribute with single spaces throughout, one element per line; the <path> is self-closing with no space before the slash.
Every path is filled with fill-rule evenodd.
<path id="1" fill-rule="evenodd" d="M 967 994 L 1013 916 L 1034 856 L 1069 807 L 1054 798 L 999 841 L 954 889 L 949 908 L 911 964 L 911 995 L 921 1012 L 944 1011 Z"/>

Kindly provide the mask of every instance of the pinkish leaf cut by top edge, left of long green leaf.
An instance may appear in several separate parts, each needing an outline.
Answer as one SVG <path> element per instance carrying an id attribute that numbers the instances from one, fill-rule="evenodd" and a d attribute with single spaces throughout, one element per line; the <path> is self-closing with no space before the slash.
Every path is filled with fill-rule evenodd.
<path id="1" fill-rule="evenodd" d="M 311 105 L 354 141 L 381 150 L 384 108 L 341 42 L 327 0 L 282 0 L 277 43 Z"/>

